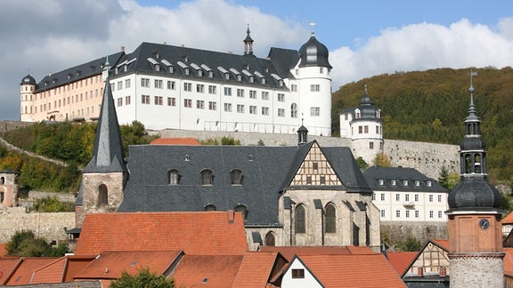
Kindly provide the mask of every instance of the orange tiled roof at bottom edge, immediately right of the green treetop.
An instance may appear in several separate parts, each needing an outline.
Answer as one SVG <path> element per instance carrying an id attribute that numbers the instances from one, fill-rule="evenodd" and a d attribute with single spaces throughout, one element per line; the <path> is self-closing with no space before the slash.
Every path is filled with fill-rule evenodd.
<path id="1" fill-rule="evenodd" d="M 232 287 L 243 256 L 185 255 L 172 277 L 176 287 Z"/>

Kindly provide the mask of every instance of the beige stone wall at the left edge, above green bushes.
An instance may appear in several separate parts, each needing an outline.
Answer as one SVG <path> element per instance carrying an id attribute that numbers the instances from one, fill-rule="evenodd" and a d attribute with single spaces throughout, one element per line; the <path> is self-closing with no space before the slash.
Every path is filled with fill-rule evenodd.
<path id="1" fill-rule="evenodd" d="M 7 243 L 21 229 L 32 230 L 48 242 L 67 240 L 66 229 L 75 228 L 75 212 L 26 212 L 25 207 L 0 210 L 0 243 Z"/>

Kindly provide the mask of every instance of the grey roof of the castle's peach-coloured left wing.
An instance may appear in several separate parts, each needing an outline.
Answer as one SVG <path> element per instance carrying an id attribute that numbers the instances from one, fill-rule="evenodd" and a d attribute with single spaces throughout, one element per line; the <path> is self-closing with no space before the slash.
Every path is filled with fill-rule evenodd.
<path id="1" fill-rule="evenodd" d="M 125 55 L 125 52 L 117 52 L 109 55 L 110 65 L 115 64 L 121 58 L 121 56 Z M 77 65 L 72 68 L 68 68 L 62 70 L 57 73 L 50 73 L 49 75 L 43 77 L 41 81 L 37 84 L 36 93 L 43 92 L 48 89 L 52 89 L 54 87 L 59 87 L 61 85 L 69 84 L 70 82 L 75 82 L 78 80 L 82 80 L 88 78 L 90 76 L 99 75 L 103 72 L 103 66 L 105 65 L 105 56 L 96 60 L 92 60 L 80 65 Z"/>

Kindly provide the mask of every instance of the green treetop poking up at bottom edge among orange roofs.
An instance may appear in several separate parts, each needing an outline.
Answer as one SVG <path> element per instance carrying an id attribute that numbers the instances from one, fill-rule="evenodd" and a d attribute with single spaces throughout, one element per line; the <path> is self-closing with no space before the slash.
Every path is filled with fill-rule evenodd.
<path id="1" fill-rule="evenodd" d="M 174 279 L 167 279 L 152 273 L 150 268 L 141 268 L 137 274 L 130 275 L 123 271 L 121 278 L 110 283 L 110 288 L 173 288 L 175 287 Z"/>

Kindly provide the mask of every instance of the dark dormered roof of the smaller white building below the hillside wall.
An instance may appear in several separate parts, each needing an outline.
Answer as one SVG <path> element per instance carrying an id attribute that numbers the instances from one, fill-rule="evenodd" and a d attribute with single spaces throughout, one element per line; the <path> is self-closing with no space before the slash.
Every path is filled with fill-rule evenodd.
<path id="1" fill-rule="evenodd" d="M 381 167 L 371 166 L 363 172 L 369 186 L 375 191 L 418 191 L 418 192 L 444 192 L 449 190 L 442 187 L 436 180 L 429 178 L 414 168 L 406 167 Z M 384 185 L 379 185 L 379 180 L 384 180 Z M 396 180 L 395 186 L 391 180 Z M 408 185 L 403 186 L 403 180 L 408 180 Z M 419 186 L 415 186 L 415 180 L 419 180 Z M 431 187 L 428 187 L 431 181 Z"/>

